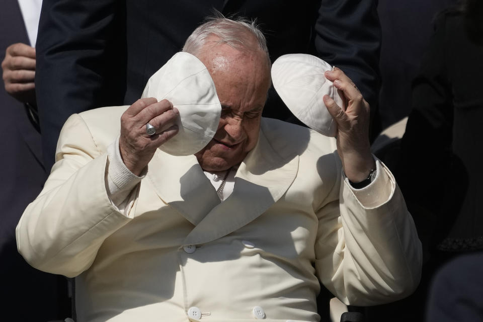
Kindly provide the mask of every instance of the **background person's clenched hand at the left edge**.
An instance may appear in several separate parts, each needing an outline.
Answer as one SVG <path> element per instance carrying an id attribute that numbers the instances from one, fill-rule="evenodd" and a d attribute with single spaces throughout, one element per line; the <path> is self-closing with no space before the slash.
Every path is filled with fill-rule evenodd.
<path id="1" fill-rule="evenodd" d="M 7 93 L 22 103 L 36 106 L 35 48 L 22 43 L 10 45 L 2 69 Z"/>

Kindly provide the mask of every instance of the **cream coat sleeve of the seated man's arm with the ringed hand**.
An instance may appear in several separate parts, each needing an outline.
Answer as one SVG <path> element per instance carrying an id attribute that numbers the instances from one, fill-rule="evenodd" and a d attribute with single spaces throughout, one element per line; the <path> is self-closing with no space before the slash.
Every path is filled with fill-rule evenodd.
<path id="1" fill-rule="evenodd" d="M 72 115 L 60 134 L 52 173 L 17 225 L 17 247 L 30 265 L 77 276 L 91 266 L 104 239 L 129 222 L 129 212 L 124 215 L 109 199 L 106 167 L 107 153 L 82 117 Z M 133 193 L 138 192 L 139 187 Z"/>

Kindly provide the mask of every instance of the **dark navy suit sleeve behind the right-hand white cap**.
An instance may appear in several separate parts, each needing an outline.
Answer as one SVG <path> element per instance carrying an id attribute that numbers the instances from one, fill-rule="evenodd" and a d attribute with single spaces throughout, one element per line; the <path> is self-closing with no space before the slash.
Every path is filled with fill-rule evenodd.
<path id="1" fill-rule="evenodd" d="M 321 1 L 315 23 L 317 54 L 341 68 L 373 109 L 380 88 L 380 46 L 376 0 Z"/>

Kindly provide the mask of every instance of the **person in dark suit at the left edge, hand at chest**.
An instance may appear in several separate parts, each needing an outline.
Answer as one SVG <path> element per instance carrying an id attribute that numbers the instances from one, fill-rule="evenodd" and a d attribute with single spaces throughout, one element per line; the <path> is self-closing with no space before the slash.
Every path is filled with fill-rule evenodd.
<path id="1" fill-rule="evenodd" d="M 70 309 L 64 277 L 33 269 L 17 252 L 15 227 L 46 179 L 40 132 L 35 120 L 35 49 L 17 0 L 0 10 L 0 285 L 2 320 L 47 321 Z"/>

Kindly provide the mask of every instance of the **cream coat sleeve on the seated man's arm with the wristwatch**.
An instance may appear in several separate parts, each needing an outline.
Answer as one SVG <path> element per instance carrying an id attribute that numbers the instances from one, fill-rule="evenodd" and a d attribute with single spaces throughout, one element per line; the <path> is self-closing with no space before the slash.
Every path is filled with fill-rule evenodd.
<path id="1" fill-rule="evenodd" d="M 348 305 L 404 298 L 421 276 L 413 219 L 392 174 L 379 161 L 376 165 L 369 186 L 355 190 L 346 179 L 318 211 L 315 268 L 327 289 Z"/>

